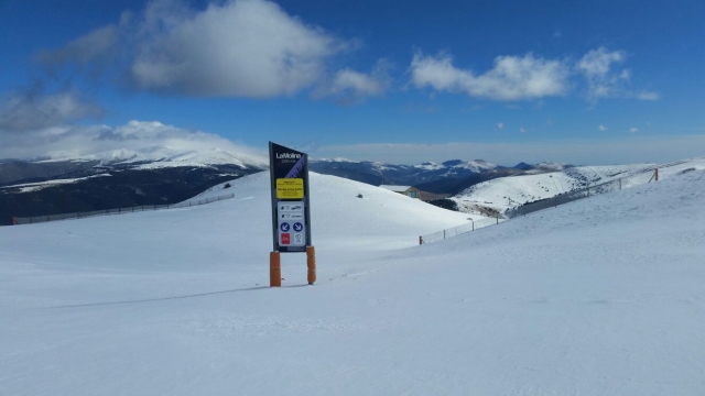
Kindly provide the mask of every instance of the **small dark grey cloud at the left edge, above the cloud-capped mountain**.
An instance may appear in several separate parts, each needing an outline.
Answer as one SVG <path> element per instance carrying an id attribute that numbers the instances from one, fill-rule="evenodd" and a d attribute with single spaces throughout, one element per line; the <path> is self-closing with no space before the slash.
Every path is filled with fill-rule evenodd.
<path id="1" fill-rule="evenodd" d="M 74 91 L 46 94 L 42 86 L 0 98 L 0 135 L 101 118 L 105 111 Z"/>

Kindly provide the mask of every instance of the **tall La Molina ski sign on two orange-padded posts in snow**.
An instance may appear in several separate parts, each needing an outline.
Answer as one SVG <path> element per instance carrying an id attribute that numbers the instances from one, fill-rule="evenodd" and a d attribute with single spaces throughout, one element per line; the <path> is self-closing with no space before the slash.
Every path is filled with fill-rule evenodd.
<path id="1" fill-rule="evenodd" d="M 316 253 L 311 243 L 308 155 L 269 142 L 272 197 L 270 287 L 280 287 L 280 253 L 306 253 L 310 285 L 316 282 Z"/>

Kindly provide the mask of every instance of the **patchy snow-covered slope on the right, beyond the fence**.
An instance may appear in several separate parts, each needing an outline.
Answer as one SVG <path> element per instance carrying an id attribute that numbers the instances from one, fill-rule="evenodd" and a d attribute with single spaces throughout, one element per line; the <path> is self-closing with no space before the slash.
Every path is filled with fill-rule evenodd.
<path id="1" fill-rule="evenodd" d="M 660 177 L 669 177 L 687 168 L 705 168 L 705 158 L 688 160 L 677 164 L 666 164 L 660 169 Z M 452 197 L 460 210 L 474 213 L 491 208 L 503 212 L 525 202 L 551 198 L 558 194 L 587 186 L 607 183 L 622 177 L 651 173 L 655 164 L 631 164 L 608 166 L 579 166 L 561 172 L 538 175 L 512 176 L 477 184 Z M 646 175 L 647 182 L 650 175 Z"/>

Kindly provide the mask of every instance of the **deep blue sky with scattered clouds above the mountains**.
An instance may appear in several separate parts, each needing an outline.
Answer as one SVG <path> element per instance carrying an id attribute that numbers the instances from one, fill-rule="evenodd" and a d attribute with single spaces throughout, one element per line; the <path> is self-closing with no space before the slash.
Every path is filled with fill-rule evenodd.
<path id="1" fill-rule="evenodd" d="M 684 0 L 6 0 L 0 157 L 131 120 L 408 164 L 703 156 L 703 20 Z"/>

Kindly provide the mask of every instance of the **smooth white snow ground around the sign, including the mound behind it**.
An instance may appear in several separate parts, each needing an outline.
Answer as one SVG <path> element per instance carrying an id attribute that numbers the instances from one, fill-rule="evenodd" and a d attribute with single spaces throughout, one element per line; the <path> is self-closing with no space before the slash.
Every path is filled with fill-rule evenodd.
<path id="1" fill-rule="evenodd" d="M 705 394 L 703 170 L 422 246 L 467 215 L 312 175 L 281 288 L 269 175 L 231 186 L 0 228 L 0 395 Z"/>

